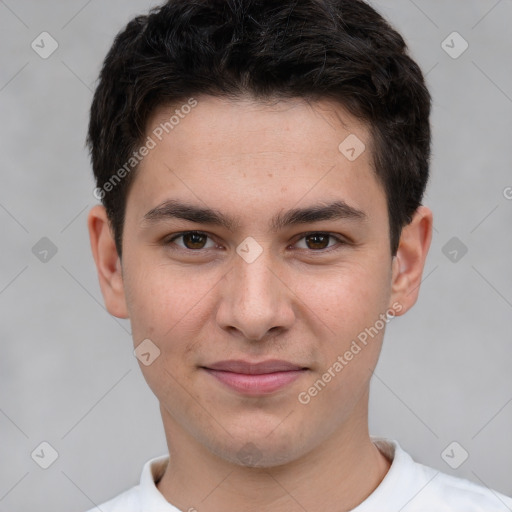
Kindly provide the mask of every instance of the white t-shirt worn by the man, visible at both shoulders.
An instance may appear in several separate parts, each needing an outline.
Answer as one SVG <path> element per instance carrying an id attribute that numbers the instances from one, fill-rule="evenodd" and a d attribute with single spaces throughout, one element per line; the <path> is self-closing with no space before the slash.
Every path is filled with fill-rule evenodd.
<path id="1" fill-rule="evenodd" d="M 351 512 L 512 512 L 512 498 L 415 462 L 396 441 L 372 437 L 390 460 L 380 485 Z M 144 465 L 140 484 L 87 512 L 181 512 L 157 489 L 168 455 Z M 187 512 L 187 511 L 183 511 Z"/>

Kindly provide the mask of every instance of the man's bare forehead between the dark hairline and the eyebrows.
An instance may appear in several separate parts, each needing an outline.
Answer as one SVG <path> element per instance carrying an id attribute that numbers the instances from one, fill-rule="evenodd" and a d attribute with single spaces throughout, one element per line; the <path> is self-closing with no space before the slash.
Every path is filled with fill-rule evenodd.
<path id="1" fill-rule="evenodd" d="M 154 148 L 130 191 L 138 218 L 177 198 L 233 214 L 318 199 L 341 199 L 362 211 L 386 208 L 368 127 L 338 103 L 194 100 L 193 108 L 160 107 L 148 121 Z"/>

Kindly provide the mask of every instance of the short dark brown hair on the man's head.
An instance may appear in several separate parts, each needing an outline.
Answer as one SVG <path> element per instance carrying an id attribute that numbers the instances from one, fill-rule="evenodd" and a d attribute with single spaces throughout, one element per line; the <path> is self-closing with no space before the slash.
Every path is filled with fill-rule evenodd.
<path id="1" fill-rule="evenodd" d="M 117 35 L 91 106 L 87 144 L 120 257 L 134 172 L 115 173 L 130 170 L 157 107 L 201 94 L 334 99 L 363 120 L 396 254 L 431 144 L 431 97 L 402 36 L 360 0 L 169 0 Z"/>

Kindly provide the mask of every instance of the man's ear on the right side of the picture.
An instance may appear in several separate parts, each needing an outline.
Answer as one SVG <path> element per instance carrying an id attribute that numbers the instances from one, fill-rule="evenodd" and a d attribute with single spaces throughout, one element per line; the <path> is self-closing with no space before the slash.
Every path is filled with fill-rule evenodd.
<path id="1" fill-rule="evenodd" d="M 404 226 L 396 256 L 393 258 L 390 305 L 402 305 L 397 316 L 414 306 L 420 291 L 421 277 L 432 240 L 432 212 L 419 206 L 412 221 Z"/>

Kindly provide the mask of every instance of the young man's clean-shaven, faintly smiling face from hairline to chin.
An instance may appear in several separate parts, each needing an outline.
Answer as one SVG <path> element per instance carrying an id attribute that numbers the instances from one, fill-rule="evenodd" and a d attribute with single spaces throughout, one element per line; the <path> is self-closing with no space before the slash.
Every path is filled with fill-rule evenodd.
<path id="1" fill-rule="evenodd" d="M 413 302 L 368 130 L 329 101 L 198 97 L 158 129 L 174 112 L 148 124 L 107 306 L 160 351 L 140 367 L 171 436 L 283 464 L 364 427 L 385 325 Z"/>

